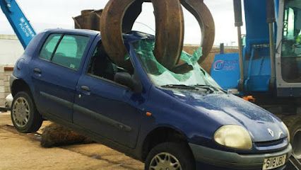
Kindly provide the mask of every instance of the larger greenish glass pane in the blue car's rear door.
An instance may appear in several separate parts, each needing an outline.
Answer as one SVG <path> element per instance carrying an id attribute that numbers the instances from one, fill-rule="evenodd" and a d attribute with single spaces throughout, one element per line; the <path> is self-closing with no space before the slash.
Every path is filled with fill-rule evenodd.
<path id="1" fill-rule="evenodd" d="M 81 35 L 64 35 L 55 51 L 52 62 L 77 70 L 89 38 Z"/>

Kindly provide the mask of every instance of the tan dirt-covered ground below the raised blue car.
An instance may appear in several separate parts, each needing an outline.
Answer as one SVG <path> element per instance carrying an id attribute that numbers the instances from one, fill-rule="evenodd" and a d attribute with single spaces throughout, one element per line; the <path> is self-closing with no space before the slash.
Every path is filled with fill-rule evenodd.
<path id="1" fill-rule="evenodd" d="M 0 170 L 143 169 L 141 162 L 100 144 L 45 149 L 39 135 L 20 134 L 7 124 L 11 124 L 9 113 L 0 113 Z"/>

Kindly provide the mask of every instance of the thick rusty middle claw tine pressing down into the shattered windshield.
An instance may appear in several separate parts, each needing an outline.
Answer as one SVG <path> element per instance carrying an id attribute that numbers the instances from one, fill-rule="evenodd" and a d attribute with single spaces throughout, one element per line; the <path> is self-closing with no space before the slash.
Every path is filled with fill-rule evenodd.
<path id="1" fill-rule="evenodd" d="M 180 1 L 152 0 L 155 10 L 155 57 L 167 69 L 179 62 L 184 41 L 184 15 Z"/>

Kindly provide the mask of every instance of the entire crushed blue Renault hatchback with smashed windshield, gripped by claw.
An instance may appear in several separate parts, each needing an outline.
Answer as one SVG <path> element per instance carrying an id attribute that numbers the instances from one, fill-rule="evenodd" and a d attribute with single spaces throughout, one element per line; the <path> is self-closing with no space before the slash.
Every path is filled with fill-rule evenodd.
<path id="1" fill-rule="evenodd" d="M 52 120 L 145 163 L 146 170 L 284 169 L 289 132 L 275 115 L 226 94 L 182 52 L 189 72 L 153 56 L 152 35 L 124 35 L 131 69 L 115 65 L 99 32 L 45 30 L 11 76 L 19 132 Z"/>

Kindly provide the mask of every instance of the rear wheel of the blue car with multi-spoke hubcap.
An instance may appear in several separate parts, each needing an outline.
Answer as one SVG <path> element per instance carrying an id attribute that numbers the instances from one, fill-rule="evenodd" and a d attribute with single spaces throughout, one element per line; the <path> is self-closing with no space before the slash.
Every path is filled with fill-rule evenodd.
<path id="1" fill-rule="evenodd" d="M 11 106 L 11 120 L 18 132 L 36 132 L 42 125 L 42 116 L 37 112 L 33 99 L 25 92 L 14 96 Z"/>

